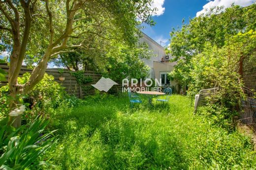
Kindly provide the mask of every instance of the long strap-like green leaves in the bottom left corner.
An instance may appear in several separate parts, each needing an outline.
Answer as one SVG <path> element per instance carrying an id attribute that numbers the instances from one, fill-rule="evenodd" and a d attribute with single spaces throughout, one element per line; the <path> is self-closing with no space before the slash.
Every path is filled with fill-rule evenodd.
<path id="1" fill-rule="evenodd" d="M 42 155 L 55 145 L 53 132 L 45 130 L 49 121 L 37 118 L 18 129 L 8 125 L 0 129 L 0 169 L 28 170 L 51 165 Z"/>

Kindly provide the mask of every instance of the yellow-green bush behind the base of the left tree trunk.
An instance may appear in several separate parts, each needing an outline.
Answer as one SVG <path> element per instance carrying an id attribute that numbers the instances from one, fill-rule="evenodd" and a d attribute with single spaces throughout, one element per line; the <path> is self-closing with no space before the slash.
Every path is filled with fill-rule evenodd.
<path id="1" fill-rule="evenodd" d="M 22 77 L 18 78 L 19 83 L 26 83 L 29 76 L 30 73 L 23 74 Z M 77 98 L 68 96 L 64 87 L 54 81 L 54 77 L 47 73 L 28 95 L 21 97 L 20 101 L 29 108 L 25 116 L 32 118 L 37 115 L 47 117 L 69 109 L 80 102 Z M 0 88 L 0 102 L 2 103 L 0 105 L 1 118 L 3 118 L 9 113 L 9 87 L 7 85 Z"/>

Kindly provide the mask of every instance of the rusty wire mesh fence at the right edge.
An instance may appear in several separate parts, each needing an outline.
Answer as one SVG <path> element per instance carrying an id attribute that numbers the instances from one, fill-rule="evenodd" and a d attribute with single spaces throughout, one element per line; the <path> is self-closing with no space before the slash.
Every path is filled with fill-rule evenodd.
<path id="1" fill-rule="evenodd" d="M 242 100 L 240 121 L 252 127 L 256 133 L 256 56 L 243 62 L 243 81 L 246 99 Z"/>

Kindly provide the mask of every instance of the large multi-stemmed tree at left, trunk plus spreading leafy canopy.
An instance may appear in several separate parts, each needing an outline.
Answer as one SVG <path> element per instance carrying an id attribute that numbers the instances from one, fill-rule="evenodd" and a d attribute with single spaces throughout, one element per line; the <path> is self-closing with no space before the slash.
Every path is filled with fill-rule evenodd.
<path id="1" fill-rule="evenodd" d="M 51 58 L 72 49 L 86 48 L 90 35 L 134 44 L 139 25 L 142 22 L 153 24 L 151 2 L 1 0 L 0 43 L 1 49 L 10 51 L 8 84 L 11 97 L 29 93 L 43 78 Z M 17 78 L 25 57 L 34 58 L 38 63 L 29 81 L 20 85 Z M 10 103 L 11 108 L 15 107 L 15 102 Z"/>

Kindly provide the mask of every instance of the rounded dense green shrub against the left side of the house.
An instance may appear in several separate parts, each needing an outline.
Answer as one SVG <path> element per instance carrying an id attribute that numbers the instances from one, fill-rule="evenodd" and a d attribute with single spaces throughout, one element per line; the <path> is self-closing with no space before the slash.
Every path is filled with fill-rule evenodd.
<path id="1" fill-rule="evenodd" d="M 116 48 L 107 53 L 107 72 L 103 75 L 117 82 L 122 82 L 124 78 L 145 79 L 149 74 L 149 67 L 141 59 L 152 56 L 145 44 L 135 48 L 117 44 Z"/>

